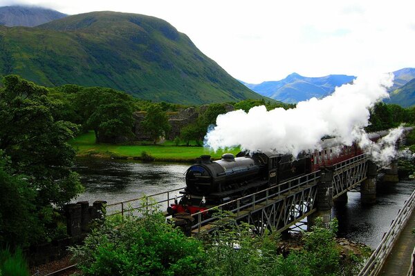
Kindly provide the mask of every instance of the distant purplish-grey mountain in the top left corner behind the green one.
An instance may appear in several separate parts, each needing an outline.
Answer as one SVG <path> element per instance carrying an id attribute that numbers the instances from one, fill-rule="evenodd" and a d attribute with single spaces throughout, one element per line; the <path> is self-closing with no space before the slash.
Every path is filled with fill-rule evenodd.
<path id="1" fill-rule="evenodd" d="M 66 16 L 62 12 L 46 8 L 29 6 L 0 7 L 0 25 L 8 27 L 34 27 Z"/>

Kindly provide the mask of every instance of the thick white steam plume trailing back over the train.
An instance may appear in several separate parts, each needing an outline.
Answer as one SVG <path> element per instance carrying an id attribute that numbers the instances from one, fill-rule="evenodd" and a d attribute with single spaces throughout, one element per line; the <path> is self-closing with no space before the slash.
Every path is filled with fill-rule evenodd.
<path id="1" fill-rule="evenodd" d="M 205 136 L 205 146 L 215 151 L 241 146 L 249 152 L 274 150 L 297 156 L 303 150 L 320 149 L 320 139 L 330 135 L 344 145 L 358 141 L 376 161 L 390 159 L 396 155 L 394 143 L 402 128 L 383 138 L 382 144 L 371 142 L 363 128 L 369 124 L 369 109 L 389 97 L 387 88 L 393 79 L 392 74 L 358 77 L 328 97 L 302 101 L 289 110 L 267 111 L 265 106 L 257 106 L 249 112 L 219 115 L 216 126 Z"/>

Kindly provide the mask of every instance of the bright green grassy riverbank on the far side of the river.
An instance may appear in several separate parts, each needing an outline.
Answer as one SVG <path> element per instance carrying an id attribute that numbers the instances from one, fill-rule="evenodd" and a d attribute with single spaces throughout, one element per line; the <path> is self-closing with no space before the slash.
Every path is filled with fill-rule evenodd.
<path id="1" fill-rule="evenodd" d="M 166 141 L 160 145 L 113 145 L 95 144 L 93 131 L 79 135 L 71 145 L 77 150 L 78 157 L 96 158 L 119 158 L 119 159 L 138 159 L 154 161 L 194 161 L 201 155 L 212 155 L 212 158 L 219 159 L 225 152 L 236 155 L 239 148 L 232 150 L 219 150 L 213 152 L 208 148 L 198 146 L 176 146 L 172 141 Z M 143 153 L 145 152 L 145 153 Z"/>

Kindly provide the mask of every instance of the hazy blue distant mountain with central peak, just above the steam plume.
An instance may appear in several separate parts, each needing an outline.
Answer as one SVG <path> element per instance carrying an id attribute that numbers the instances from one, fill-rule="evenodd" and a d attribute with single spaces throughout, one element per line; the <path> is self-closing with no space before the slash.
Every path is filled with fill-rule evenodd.
<path id="1" fill-rule="evenodd" d="M 279 81 L 264 81 L 259 84 L 242 83 L 266 97 L 285 103 L 297 103 L 312 97 L 321 98 L 330 95 L 336 86 L 350 83 L 353 79 L 356 79 L 356 77 L 347 75 L 303 77 L 293 73 Z"/>

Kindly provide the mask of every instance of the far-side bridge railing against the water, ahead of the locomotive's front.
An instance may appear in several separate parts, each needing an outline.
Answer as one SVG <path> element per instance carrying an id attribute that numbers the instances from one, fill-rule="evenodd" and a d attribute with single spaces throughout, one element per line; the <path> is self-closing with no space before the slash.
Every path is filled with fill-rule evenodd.
<path id="1" fill-rule="evenodd" d="M 144 207 L 146 206 L 154 206 L 154 205 L 158 205 L 158 206 L 163 206 L 164 203 L 167 203 L 167 206 L 170 206 L 170 201 L 174 201 L 174 199 L 180 199 L 181 197 L 183 197 L 183 195 L 179 194 L 179 192 L 181 190 L 184 190 L 185 187 L 181 187 L 181 188 L 176 188 L 174 190 L 167 190 L 165 192 L 161 192 L 161 193 L 156 193 L 153 195 L 146 195 L 143 197 L 137 197 L 134 199 L 129 199 L 126 201 L 121 201 L 121 202 L 116 202 L 113 204 L 108 204 L 106 206 L 107 208 L 107 214 L 108 215 L 119 215 L 121 214 L 122 216 L 124 216 L 125 210 L 138 210 L 140 208 L 142 208 L 144 205 Z M 161 200 L 157 200 L 157 198 L 161 198 Z M 149 202 L 149 199 L 155 199 L 156 201 L 151 201 Z M 142 205 L 140 205 L 142 204 Z M 116 209 L 116 206 L 119 206 L 120 210 L 113 210 Z"/>

